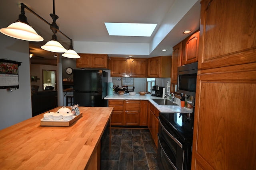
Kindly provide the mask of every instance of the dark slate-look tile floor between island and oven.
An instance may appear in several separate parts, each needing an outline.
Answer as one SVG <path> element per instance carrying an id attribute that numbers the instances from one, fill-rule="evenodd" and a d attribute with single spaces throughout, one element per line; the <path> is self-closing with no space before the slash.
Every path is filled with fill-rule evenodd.
<path id="1" fill-rule="evenodd" d="M 159 170 L 157 149 L 148 129 L 112 129 L 111 132 L 110 152 L 109 145 L 103 148 L 102 170 Z"/>

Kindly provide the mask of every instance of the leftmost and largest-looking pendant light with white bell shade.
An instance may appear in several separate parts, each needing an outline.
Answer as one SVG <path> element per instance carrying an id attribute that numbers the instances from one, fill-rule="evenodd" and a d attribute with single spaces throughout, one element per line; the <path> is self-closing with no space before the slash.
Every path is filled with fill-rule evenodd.
<path id="1" fill-rule="evenodd" d="M 10 24 L 6 28 L 0 29 L 0 32 L 9 37 L 22 39 L 26 41 L 43 41 L 43 37 L 38 35 L 36 31 L 29 25 L 25 16 L 25 5 L 21 3 L 21 11 L 18 20 Z"/>

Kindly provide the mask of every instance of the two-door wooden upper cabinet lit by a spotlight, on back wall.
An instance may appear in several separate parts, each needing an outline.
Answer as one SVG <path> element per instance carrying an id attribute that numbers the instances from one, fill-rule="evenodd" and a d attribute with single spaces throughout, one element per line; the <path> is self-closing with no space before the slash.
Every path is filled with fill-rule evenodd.
<path id="1" fill-rule="evenodd" d="M 112 77 L 146 77 L 147 59 L 110 58 Z"/>

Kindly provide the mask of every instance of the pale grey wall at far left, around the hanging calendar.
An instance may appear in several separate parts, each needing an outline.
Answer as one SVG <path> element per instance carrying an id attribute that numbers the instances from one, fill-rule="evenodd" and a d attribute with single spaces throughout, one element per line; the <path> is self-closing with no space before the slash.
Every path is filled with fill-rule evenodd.
<path id="1" fill-rule="evenodd" d="M 0 28 L 9 24 L 0 19 Z M 28 41 L 0 33 L 0 59 L 22 62 L 18 68 L 19 88 L 13 92 L 0 89 L 0 129 L 4 129 L 32 117 Z"/>

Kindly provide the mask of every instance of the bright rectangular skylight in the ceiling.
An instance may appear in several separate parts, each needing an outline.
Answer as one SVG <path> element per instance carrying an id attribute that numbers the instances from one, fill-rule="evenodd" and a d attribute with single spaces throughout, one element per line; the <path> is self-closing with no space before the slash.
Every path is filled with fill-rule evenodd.
<path id="1" fill-rule="evenodd" d="M 111 23 L 105 22 L 109 35 L 150 37 L 156 23 Z"/>

